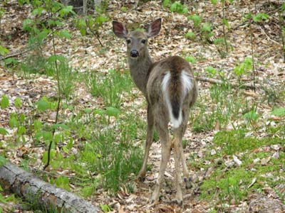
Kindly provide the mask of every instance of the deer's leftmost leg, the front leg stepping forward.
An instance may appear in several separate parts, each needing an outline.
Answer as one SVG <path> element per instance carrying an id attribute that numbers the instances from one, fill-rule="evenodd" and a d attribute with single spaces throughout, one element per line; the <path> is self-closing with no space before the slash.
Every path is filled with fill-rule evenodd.
<path id="1" fill-rule="evenodd" d="M 145 155 L 142 161 L 142 168 L 138 173 L 138 180 L 144 181 L 145 180 L 145 173 L 147 171 L 147 158 L 150 153 L 150 146 L 152 145 L 153 141 L 153 131 L 154 131 L 154 119 L 152 115 L 152 109 L 150 105 L 147 106 L 147 138 L 145 141 Z"/>

